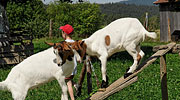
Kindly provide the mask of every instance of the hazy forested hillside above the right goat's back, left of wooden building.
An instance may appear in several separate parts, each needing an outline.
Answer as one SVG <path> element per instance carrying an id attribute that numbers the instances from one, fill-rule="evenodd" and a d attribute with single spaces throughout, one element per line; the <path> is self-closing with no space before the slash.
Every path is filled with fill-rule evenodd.
<path id="1" fill-rule="evenodd" d="M 143 2 L 144 1 L 144 2 Z M 159 7 L 153 5 L 155 0 L 129 0 L 118 3 L 99 4 L 101 13 L 104 14 L 103 25 L 122 18 L 138 18 L 142 24 L 145 21 L 145 14 L 148 13 L 149 30 L 159 29 Z"/>

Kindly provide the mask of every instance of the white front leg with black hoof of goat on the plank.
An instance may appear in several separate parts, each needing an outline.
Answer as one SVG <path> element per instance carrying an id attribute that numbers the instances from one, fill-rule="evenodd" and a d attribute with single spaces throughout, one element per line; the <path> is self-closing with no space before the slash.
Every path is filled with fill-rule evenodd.
<path id="1" fill-rule="evenodd" d="M 106 74 L 106 63 L 107 63 L 107 56 L 103 55 L 99 57 L 101 61 L 101 72 L 102 72 L 102 83 L 101 88 L 106 88 L 108 86 L 108 78 Z"/>

